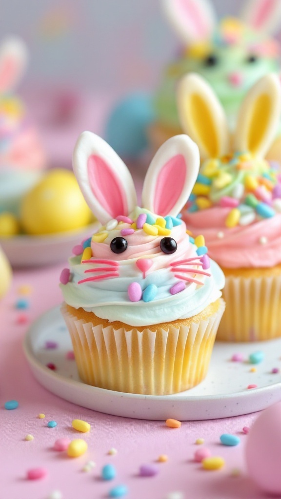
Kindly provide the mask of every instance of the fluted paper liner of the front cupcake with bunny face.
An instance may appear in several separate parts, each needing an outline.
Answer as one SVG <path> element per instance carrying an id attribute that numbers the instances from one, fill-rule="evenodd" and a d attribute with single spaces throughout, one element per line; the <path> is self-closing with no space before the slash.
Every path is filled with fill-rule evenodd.
<path id="1" fill-rule="evenodd" d="M 206 375 L 224 302 L 206 320 L 156 332 L 114 330 L 77 319 L 61 308 L 81 380 L 127 393 L 167 395 L 197 385 Z"/>

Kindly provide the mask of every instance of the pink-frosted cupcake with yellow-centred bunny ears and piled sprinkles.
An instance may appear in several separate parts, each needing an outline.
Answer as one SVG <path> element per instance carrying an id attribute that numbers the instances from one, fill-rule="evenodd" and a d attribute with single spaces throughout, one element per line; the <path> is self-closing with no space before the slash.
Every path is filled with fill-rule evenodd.
<path id="1" fill-rule="evenodd" d="M 281 336 L 281 174 L 264 160 L 280 117 L 279 80 L 268 74 L 249 90 L 232 146 L 221 104 L 200 76 L 182 78 L 178 109 L 205 160 L 183 219 L 193 235 L 203 231 L 226 276 L 217 339 Z"/>

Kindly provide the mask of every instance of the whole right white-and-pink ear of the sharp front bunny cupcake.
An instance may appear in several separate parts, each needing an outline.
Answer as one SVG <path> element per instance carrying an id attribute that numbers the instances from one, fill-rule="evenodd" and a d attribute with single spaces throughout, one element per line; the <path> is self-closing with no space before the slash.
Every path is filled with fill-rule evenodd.
<path id="1" fill-rule="evenodd" d="M 144 179 L 143 208 L 161 217 L 176 217 L 196 182 L 199 164 L 198 147 L 187 135 L 175 135 L 164 142 Z"/>

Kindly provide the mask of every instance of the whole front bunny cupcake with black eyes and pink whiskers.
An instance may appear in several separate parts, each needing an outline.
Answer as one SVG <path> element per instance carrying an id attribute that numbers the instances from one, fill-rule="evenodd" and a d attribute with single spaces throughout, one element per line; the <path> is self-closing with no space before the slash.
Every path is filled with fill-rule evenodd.
<path id="1" fill-rule="evenodd" d="M 62 314 L 81 379 L 110 390 L 169 394 L 206 375 L 224 310 L 224 276 L 176 217 L 199 168 L 185 135 L 154 156 L 142 208 L 126 166 L 98 136 L 83 132 L 73 170 L 102 224 L 69 259 Z"/>

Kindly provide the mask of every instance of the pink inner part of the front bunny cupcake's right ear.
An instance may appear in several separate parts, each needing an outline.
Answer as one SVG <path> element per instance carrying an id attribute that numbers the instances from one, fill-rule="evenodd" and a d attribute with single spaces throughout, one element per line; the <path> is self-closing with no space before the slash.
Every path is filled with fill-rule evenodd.
<path id="1" fill-rule="evenodd" d="M 185 159 L 177 154 L 163 166 L 156 181 L 154 212 L 157 215 L 165 217 L 171 212 L 182 193 L 185 178 Z"/>

